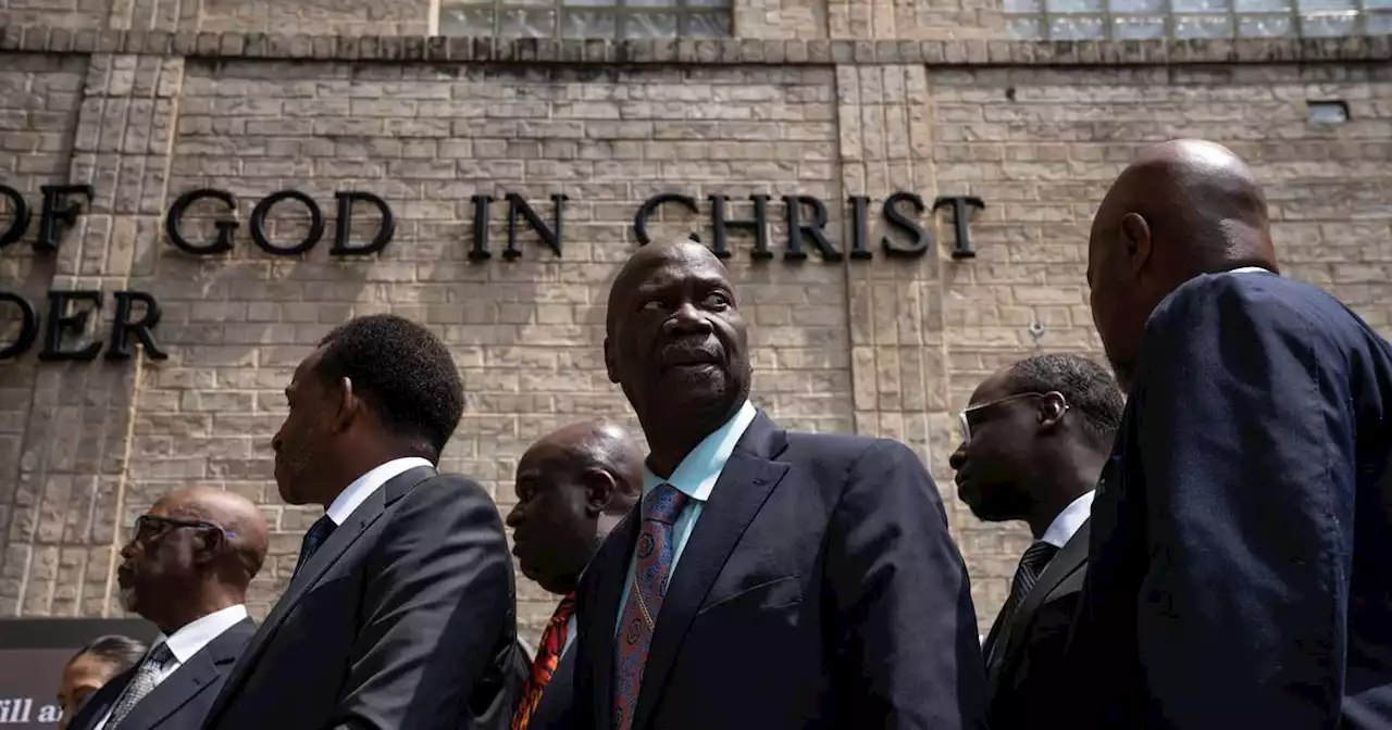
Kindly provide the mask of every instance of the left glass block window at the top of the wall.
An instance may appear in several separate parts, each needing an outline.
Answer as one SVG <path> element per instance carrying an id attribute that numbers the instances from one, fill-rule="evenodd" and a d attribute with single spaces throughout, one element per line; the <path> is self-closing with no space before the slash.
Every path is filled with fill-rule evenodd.
<path id="1" fill-rule="evenodd" d="M 732 0 L 440 0 L 440 35 L 728 38 Z"/>

